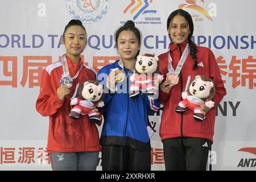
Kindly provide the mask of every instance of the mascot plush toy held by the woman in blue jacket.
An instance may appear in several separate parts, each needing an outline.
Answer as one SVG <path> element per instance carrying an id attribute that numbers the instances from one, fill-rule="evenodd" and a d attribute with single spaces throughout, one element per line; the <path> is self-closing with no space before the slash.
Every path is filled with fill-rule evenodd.
<path id="1" fill-rule="evenodd" d="M 139 94 L 139 90 L 146 91 L 148 96 L 158 97 L 158 85 L 163 76 L 159 74 L 159 59 L 151 54 L 138 55 L 135 63 L 135 72 L 130 77 L 133 84 L 130 86 L 130 97 Z"/>

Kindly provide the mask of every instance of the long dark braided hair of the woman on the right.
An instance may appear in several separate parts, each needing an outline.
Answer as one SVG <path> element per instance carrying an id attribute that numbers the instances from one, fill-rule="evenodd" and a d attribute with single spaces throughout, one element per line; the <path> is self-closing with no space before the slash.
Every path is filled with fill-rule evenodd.
<path id="1" fill-rule="evenodd" d="M 192 17 L 187 11 L 184 11 L 181 9 L 177 9 L 177 10 L 173 11 L 167 19 L 167 30 L 169 30 L 170 23 L 171 23 L 172 19 L 174 18 L 174 16 L 176 16 L 176 15 L 183 16 L 188 22 L 189 31 L 190 31 L 190 33 L 188 34 L 188 45 L 191 50 L 190 55 L 193 58 L 193 60 L 195 61 L 195 64 L 193 65 L 193 69 L 197 69 L 196 44 L 192 42 L 192 35 L 193 35 L 193 31 L 194 31 L 194 24 L 193 24 Z M 171 40 L 170 34 L 169 34 L 169 38 Z"/>

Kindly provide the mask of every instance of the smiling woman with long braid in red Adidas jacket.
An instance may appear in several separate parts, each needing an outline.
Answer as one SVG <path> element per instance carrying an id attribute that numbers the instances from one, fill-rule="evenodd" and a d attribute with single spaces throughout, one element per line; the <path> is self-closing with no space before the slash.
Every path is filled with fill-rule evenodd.
<path id="1" fill-rule="evenodd" d="M 163 107 L 160 137 L 164 148 L 166 170 L 206 170 L 213 143 L 215 109 L 226 94 L 216 59 L 209 48 L 196 46 L 192 42 L 193 20 L 184 10 L 175 10 L 167 20 L 171 39 L 168 52 L 159 56 L 160 74 L 164 81 L 160 85 L 159 100 Z M 166 74 L 172 73 L 172 79 Z M 204 75 L 216 86 L 214 107 L 200 104 L 205 115 L 202 122 L 193 119 L 193 111 L 176 113 L 175 107 L 182 100 L 188 76 Z"/>

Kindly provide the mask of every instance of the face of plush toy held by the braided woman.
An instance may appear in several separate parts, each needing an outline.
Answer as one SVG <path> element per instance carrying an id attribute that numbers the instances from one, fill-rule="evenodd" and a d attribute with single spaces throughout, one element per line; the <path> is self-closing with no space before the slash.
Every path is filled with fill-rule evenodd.
<path id="1" fill-rule="evenodd" d="M 189 86 L 189 93 L 198 98 L 207 98 L 210 95 L 212 87 L 213 82 L 203 81 L 200 76 L 196 76 L 195 80 Z"/>

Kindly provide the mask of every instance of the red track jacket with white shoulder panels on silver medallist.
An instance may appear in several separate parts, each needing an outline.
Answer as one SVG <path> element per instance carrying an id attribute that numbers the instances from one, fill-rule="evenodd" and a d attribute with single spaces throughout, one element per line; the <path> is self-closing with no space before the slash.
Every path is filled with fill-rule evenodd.
<path id="1" fill-rule="evenodd" d="M 69 60 L 68 68 L 71 77 L 79 70 L 79 65 Z M 97 126 L 89 121 L 88 115 L 81 115 L 73 120 L 69 117 L 71 111 L 70 98 L 75 92 L 77 83 L 95 80 L 96 74 L 92 68 L 82 65 L 79 76 L 73 80 L 71 92 L 61 101 L 57 97 L 57 88 L 63 74 L 61 62 L 50 64 L 42 72 L 41 88 L 36 110 L 43 116 L 49 116 L 48 153 L 100 151 L 100 139 Z M 99 123 L 100 125 L 100 123 Z"/>

